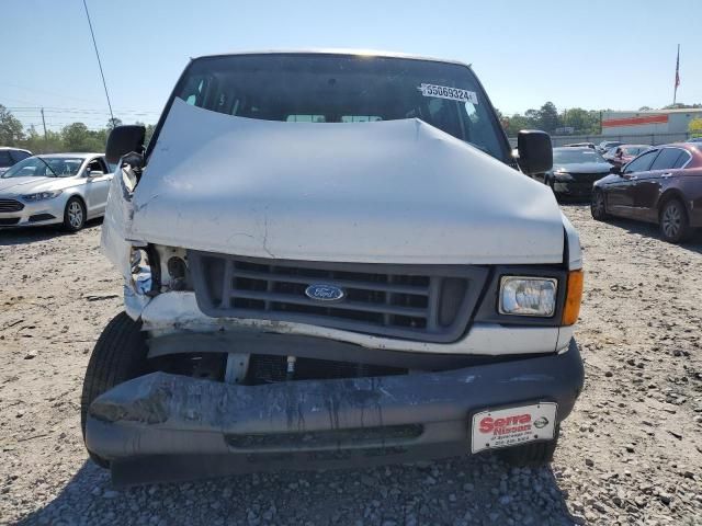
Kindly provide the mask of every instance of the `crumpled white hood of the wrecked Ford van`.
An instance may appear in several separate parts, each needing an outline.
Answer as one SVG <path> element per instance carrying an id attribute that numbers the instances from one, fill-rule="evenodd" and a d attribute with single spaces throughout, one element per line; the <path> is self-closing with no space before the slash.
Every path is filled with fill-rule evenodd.
<path id="1" fill-rule="evenodd" d="M 177 99 L 127 236 L 239 255 L 559 263 L 551 190 L 419 119 L 233 117 Z"/>

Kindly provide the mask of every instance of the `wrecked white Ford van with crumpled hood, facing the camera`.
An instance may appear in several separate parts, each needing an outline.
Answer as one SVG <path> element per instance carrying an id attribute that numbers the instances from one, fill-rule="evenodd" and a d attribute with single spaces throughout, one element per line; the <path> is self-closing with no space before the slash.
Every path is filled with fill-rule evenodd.
<path id="1" fill-rule="evenodd" d="M 551 459 L 584 381 L 578 236 L 524 175 L 550 137 L 512 152 L 471 67 L 197 58 L 144 135 L 107 144 L 125 312 L 81 400 L 116 483 Z"/>

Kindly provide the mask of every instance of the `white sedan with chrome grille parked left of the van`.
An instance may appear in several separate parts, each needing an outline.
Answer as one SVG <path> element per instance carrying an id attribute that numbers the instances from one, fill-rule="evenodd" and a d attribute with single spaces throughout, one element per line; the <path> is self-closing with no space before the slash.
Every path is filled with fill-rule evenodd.
<path id="1" fill-rule="evenodd" d="M 0 228 L 61 224 L 80 230 L 104 215 L 111 180 L 102 153 L 24 159 L 0 176 Z"/>

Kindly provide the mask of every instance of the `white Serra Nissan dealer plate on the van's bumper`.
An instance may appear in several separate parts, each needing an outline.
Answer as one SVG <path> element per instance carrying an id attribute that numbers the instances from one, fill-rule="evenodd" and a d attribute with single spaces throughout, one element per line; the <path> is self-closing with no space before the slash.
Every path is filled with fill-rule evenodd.
<path id="1" fill-rule="evenodd" d="M 541 402 L 474 414 L 471 451 L 553 441 L 557 408 L 557 403 Z"/>

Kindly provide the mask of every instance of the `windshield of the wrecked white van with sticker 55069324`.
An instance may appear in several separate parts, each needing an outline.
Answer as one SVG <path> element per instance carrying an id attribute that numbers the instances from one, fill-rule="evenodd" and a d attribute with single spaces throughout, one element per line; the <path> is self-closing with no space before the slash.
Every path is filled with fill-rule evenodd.
<path id="1" fill-rule="evenodd" d="M 267 54 L 202 58 L 176 96 L 248 118 L 361 123 L 420 118 L 502 161 L 509 148 L 469 68 L 387 57 Z"/>

